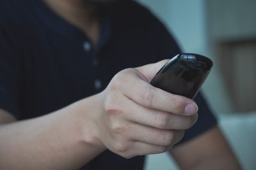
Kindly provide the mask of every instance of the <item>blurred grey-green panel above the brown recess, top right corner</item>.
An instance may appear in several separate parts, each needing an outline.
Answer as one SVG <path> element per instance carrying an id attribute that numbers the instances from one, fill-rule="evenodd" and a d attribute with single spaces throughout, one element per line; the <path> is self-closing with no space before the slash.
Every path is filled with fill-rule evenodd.
<path id="1" fill-rule="evenodd" d="M 211 41 L 256 38 L 256 1 L 205 1 Z"/>

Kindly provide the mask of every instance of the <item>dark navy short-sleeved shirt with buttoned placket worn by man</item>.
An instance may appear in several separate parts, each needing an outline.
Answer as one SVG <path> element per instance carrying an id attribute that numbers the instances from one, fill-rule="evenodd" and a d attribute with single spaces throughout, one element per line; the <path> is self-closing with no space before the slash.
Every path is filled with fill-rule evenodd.
<path id="1" fill-rule="evenodd" d="M 0 108 L 18 120 L 58 110 L 106 88 L 122 69 L 170 59 L 177 43 L 150 11 L 134 1 L 106 10 L 96 47 L 41 0 L 0 1 Z M 204 98 L 187 141 L 216 124 Z M 142 169 L 144 157 L 108 150 L 84 169 Z"/>

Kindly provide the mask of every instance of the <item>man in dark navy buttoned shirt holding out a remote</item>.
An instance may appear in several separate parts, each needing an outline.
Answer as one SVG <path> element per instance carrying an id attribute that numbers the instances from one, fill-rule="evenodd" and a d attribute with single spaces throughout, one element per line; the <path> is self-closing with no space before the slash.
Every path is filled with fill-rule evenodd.
<path id="1" fill-rule="evenodd" d="M 81 0 L 0 8 L 0 169 L 142 169 L 140 155 L 166 151 L 182 169 L 240 169 L 201 94 L 198 111 L 150 85 L 179 48 L 145 8 Z"/>

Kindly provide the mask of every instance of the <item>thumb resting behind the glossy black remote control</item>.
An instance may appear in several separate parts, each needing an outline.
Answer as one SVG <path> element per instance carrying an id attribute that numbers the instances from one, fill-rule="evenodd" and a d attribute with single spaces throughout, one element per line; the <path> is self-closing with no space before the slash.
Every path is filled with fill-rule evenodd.
<path id="1" fill-rule="evenodd" d="M 147 64 L 145 66 L 136 67 L 138 71 L 140 71 L 143 76 L 145 76 L 149 81 L 152 80 L 152 78 L 156 75 L 157 71 L 161 69 L 161 67 L 164 66 L 168 62 L 169 59 L 161 60 L 156 63 Z"/>

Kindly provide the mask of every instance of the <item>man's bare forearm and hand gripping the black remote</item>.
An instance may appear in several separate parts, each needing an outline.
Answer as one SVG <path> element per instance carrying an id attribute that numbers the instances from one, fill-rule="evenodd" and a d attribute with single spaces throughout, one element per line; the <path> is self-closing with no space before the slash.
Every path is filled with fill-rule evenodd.
<path id="1" fill-rule="evenodd" d="M 165 63 L 120 71 L 103 92 L 42 117 L 12 122 L 0 111 L 0 169 L 78 169 L 106 148 L 165 152 L 197 118 L 194 101 L 150 85 Z"/>

